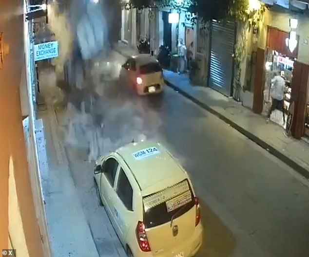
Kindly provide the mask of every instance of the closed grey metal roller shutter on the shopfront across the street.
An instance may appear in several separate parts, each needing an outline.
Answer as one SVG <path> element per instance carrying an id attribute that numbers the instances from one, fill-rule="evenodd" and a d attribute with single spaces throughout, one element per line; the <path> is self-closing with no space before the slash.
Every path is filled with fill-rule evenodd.
<path id="1" fill-rule="evenodd" d="M 208 85 L 226 96 L 232 95 L 235 34 L 235 22 L 212 21 Z"/>

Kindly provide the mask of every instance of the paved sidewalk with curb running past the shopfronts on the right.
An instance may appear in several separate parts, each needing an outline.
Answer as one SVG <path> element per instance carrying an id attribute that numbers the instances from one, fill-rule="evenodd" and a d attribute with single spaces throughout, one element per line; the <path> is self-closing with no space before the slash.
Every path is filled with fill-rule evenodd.
<path id="1" fill-rule="evenodd" d="M 136 50 L 124 43 L 119 43 L 116 51 L 125 56 L 136 54 Z M 164 78 L 175 91 L 216 115 L 309 179 L 309 145 L 306 142 L 287 137 L 279 125 L 266 122 L 262 115 L 253 113 L 211 88 L 192 86 L 187 75 L 165 70 Z"/>

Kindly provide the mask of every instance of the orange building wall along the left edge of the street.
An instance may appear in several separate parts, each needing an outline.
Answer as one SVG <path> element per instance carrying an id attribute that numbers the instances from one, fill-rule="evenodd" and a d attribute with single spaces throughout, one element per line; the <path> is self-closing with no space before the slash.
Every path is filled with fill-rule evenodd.
<path id="1" fill-rule="evenodd" d="M 28 1 L 3 0 L 0 5 L 0 16 L 7 17 L 0 24 L 1 44 L 9 50 L 0 67 L 0 247 L 16 249 L 17 256 L 49 257 L 39 182 L 33 24 L 25 15 L 7 16 L 16 10 L 25 14 L 28 7 Z"/>

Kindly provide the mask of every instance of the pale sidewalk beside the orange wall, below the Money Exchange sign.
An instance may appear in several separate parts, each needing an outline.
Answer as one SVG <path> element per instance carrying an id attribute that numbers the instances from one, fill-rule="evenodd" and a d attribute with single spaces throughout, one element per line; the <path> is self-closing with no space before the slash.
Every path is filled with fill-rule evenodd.
<path id="1" fill-rule="evenodd" d="M 54 82 L 52 76 L 46 77 L 41 73 L 39 76 L 41 89 Z M 55 110 L 46 106 L 44 109 L 38 111 L 36 136 L 52 256 L 99 257 L 63 144 L 58 137 Z"/>

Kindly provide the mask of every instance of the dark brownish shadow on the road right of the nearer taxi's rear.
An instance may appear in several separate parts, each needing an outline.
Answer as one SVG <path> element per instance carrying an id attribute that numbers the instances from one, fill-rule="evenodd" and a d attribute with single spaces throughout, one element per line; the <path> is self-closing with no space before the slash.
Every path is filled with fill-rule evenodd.
<path id="1" fill-rule="evenodd" d="M 236 247 L 232 232 L 202 200 L 203 244 L 195 257 L 230 257 Z"/>

